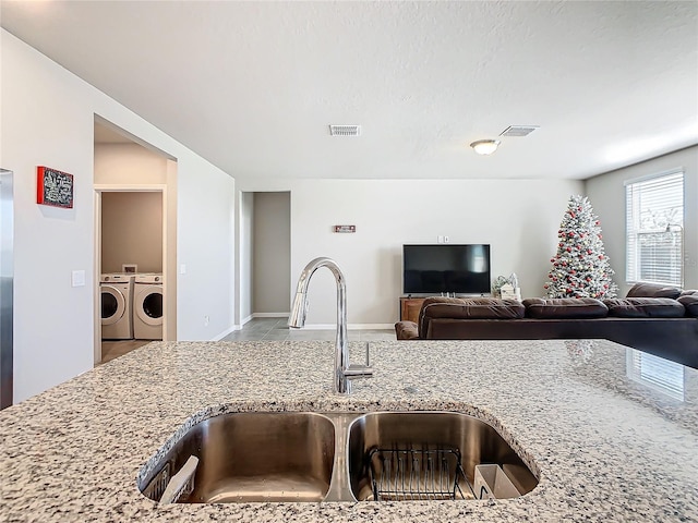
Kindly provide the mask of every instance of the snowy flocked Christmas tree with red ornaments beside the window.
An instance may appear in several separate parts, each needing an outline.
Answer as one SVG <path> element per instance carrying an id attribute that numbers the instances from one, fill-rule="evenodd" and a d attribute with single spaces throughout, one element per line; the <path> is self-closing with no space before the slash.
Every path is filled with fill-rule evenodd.
<path id="1" fill-rule="evenodd" d="M 603 251 L 601 223 L 587 197 L 571 196 L 557 231 L 557 254 L 543 285 L 550 297 L 613 297 L 617 285 Z"/>

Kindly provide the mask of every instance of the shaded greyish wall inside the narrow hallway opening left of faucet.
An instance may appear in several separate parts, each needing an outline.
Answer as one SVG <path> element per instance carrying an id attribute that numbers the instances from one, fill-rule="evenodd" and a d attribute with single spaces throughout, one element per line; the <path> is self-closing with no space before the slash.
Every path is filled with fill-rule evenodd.
<path id="1" fill-rule="evenodd" d="M 288 315 L 291 295 L 290 193 L 254 193 L 254 314 Z"/>

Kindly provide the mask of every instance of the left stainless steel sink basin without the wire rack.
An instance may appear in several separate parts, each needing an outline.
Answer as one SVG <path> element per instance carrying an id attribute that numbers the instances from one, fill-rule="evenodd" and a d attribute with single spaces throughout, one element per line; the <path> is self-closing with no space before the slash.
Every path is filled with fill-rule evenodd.
<path id="1" fill-rule="evenodd" d="M 195 455 L 190 503 L 321 501 L 335 460 L 330 419 L 312 412 L 232 413 L 194 425 L 143 482 L 159 500 L 170 477 Z"/>

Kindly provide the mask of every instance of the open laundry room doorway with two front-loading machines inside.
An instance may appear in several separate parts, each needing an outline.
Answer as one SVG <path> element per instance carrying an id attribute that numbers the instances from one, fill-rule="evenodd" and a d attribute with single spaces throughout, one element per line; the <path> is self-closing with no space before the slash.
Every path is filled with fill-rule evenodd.
<path id="1" fill-rule="evenodd" d="M 95 118 L 95 365 L 177 339 L 177 160 Z"/>

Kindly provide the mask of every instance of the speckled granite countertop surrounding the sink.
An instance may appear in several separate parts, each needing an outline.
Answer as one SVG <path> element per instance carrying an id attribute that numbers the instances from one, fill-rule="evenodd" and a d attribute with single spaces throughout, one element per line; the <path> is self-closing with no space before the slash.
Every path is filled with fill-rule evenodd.
<path id="1" fill-rule="evenodd" d="M 360 363 L 362 345 L 351 349 Z M 626 351 L 372 342 L 374 378 L 337 397 L 332 342 L 151 343 L 0 412 L 0 521 L 698 521 L 698 370 L 679 368 L 684 389 L 670 396 L 630 379 Z M 256 410 L 474 414 L 540 483 L 495 501 L 160 506 L 141 495 L 144 464 L 193 416 Z"/>

